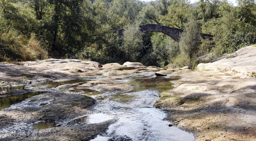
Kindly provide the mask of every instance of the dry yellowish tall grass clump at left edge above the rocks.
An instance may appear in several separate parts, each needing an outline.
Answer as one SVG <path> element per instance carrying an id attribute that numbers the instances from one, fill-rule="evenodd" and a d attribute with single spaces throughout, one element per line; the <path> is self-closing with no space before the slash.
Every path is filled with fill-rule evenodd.
<path id="1" fill-rule="evenodd" d="M 48 54 L 34 33 L 30 38 L 14 30 L 0 33 L 0 61 L 32 61 L 45 59 Z"/>

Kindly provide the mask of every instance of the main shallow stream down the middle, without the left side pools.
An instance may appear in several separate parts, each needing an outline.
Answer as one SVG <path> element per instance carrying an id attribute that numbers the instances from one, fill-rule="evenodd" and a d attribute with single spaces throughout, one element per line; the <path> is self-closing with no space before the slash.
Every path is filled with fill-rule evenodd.
<path id="1" fill-rule="evenodd" d="M 110 125 L 105 136 L 92 141 L 104 141 L 115 136 L 128 136 L 134 141 L 193 141 L 194 136 L 177 127 L 169 127 L 166 113 L 153 107 L 160 92 L 172 88 L 172 82 L 180 77 L 135 76 L 131 80 L 133 90 L 116 93 L 99 100 L 97 114 L 90 115 L 88 122 L 96 123 L 109 118 L 118 121 Z M 100 114 L 100 115 L 99 115 Z M 95 116 L 97 115 L 97 116 Z"/>

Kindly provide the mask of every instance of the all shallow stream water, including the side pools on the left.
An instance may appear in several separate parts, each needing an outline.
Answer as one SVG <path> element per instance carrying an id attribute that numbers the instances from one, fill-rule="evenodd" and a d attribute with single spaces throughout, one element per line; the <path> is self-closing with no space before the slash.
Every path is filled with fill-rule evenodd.
<path id="1" fill-rule="evenodd" d="M 102 79 L 97 76 L 96 79 Z M 39 121 L 33 124 L 18 124 L 17 128 L 28 128 L 29 130 L 41 130 L 58 126 L 72 126 L 77 124 L 93 124 L 117 119 L 117 122 L 109 126 L 105 135 L 97 136 L 91 141 L 107 141 L 113 137 L 127 136 L 133 141 L 193 141 L 192 134 L 187 133 L 177 127 L 168 125 L 164 120 L 166 113 L 154 108 L 153 104 L 159 99 L 159 93 L 172 88 L 173 82 L 179 80 L 179 76 L 155 77 L 153 72 L 140 73 L 140 75 L 130 76 L 128 79 L 116 80 L 129 82 L 133 89 L 123 93 L 101 93 L 91 90 L 88 86 L 81 86 L 89 80 L 76 79 L 62 82 L 45 82 L 37 84 L 41 90 L 58 88 L 68 90 L 72 93 L 84 93 L 97 99 L 94 113 L 77 117 L 71 121 L 55 123 Z M 18 105 L 27 98 L 28 102 L 36 102 L 38 99 L 31 97 L 44 92 L 29 92 L 22 95 L 4 97 L 0 100 L 0 109 L 10 107 L 12 104 Z M 48 103 L 41 103 L 44 104 Z M 12 132 L 8 129 L 6 132 Z M 3 130 L 2 130 L 3 131 Z M 1 130 L 0 130 L 0 133 Z M 0 134 L 1 137 L 1 134 Z"/>

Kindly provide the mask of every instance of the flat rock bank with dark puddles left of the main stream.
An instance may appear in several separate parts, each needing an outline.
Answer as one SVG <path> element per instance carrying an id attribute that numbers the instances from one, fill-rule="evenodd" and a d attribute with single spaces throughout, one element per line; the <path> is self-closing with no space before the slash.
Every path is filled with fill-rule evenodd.
<path id="1" fill-rule="evenodd" d="M 100 65 L 76 59 L 2 64 L 0 140 L 91 140 L 103 135 L 118 119 L 95 113 L 99 100 L 132 90 L 123 81 L 132 75 L 159 70 L 141 63 Z M 90 117 L 94 114 L 99 115 Z"/>

